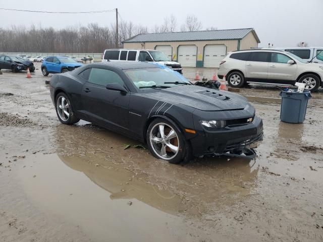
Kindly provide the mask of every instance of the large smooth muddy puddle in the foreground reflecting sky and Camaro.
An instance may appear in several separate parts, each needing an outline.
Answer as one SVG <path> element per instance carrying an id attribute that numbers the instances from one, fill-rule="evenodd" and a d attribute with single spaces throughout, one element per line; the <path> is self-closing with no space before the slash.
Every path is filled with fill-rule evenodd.
<path id="1" fill-rule="evenodd" d="M 193 241 L 176 215 L 181 198 L 130 171 L 57 154 L 30 156 L 23 164 L 18 175 L 30 200 L 94 241 Z"/>

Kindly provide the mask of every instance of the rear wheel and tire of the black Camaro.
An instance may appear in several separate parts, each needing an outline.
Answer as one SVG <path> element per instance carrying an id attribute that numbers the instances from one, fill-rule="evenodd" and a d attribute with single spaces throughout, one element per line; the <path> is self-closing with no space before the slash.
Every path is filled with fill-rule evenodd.
<path id="1" fill-rule="evenodd" d="M 73 125 L 79 122 L 79 118 L 73 112 L 73 106 L 64 92 L 60 92 L 55 99 L 56 114 L 61 123 Z"/>

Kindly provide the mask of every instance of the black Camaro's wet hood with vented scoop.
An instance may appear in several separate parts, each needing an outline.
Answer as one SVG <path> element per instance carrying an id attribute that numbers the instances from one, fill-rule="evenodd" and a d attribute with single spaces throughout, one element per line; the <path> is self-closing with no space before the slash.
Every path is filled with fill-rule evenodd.
<path id="1" fill-rule="evenodd" d="M 204 111 L 242 110 L 248 106 L 247 99 L 241 95 L 195 85 L 178 85 L 143 95 Z"/>

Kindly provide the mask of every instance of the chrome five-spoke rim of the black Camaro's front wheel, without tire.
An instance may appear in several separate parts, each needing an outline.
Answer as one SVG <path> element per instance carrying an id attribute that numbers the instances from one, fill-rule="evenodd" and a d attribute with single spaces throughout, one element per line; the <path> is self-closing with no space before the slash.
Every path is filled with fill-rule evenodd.
<path id="1" fill-rule="evenodd" d="M 155 154 L 164 160 L 173 159 L 180 148 L 176 131 L 165 123 L 158 123 L 152 127 L 149 142 Z"/>

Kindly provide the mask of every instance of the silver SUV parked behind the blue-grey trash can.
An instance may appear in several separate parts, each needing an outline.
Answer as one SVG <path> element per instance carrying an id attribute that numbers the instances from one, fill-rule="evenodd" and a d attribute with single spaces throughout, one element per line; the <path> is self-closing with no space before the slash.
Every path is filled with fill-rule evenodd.
<path id="1" fill-rule="evenodd" d="M 221 79 L 226 76 L 231 87 L 253 82 L 290 85 L 301 82 L 305 89 L 315 91 L 323 85 L 323 64 L 308 63 L 280 50 L 239 50 L 229 52 L 223 59 L 218 76 Z"/>

